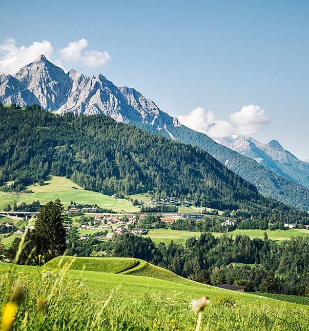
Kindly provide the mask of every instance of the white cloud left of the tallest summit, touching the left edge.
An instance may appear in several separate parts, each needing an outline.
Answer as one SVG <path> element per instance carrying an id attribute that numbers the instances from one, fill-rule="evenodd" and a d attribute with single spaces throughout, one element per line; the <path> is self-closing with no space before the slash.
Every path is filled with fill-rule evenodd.
<path id="1" fill-rule="evenodd" d="M 6 38 L 0 44 L 0 73 L 13 74 L 33 62 L 40 54 L 50 58 L 52 53 L 53 46 L 46 40 L 33 42 L 29 47 L 17 47 L 14 38 Z"/>

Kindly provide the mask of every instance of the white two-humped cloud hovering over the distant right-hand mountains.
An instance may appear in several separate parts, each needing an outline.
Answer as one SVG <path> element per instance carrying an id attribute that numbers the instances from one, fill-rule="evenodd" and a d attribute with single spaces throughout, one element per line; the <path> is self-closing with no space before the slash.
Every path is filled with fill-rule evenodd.
<path id="1" fill-rule="evenodd" d="M 202 107 L 177 118 L 181 124 L 213 139 L 231 137 L 233 134 L 252 135 L 269 122 L 264 109 L 254 105 L 243 106 L 240 111 L 231 113 L 229 121 L 216 120 L 213 111 L 206 112 Z"/>

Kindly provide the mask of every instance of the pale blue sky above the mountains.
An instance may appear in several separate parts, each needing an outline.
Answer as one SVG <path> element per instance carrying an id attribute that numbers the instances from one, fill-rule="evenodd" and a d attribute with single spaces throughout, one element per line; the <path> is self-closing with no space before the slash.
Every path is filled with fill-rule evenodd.
<path id="1" fill-rule="evenodd" d="M 20 53 L 19 64 L 46 49 L 64 68 L 134 87 L 170 115 L 199 107 L 200 121 L 276 139 L 309 159 L 307 1 L 12 0 L 1 7 L 0 71 L 10 54 Z M 249 105 L 255 108 L 243 108 Z M 252 130 L 241 130 L 242 115 Z"/>

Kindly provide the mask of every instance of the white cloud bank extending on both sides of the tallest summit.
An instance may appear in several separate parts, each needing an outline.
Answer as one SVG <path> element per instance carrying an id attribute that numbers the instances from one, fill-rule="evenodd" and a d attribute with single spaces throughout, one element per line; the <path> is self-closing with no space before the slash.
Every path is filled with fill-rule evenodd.
<path id="1" fill-rule="evenodd" d="M 49 41 L 33 42 L 30 46 L 16 46 L 14 38 L 6 38 L 0 44 L 0 74 L 14 74 L 19 68 L 33 62 L 39 55 L 44 54 L 47 59 L 55 62 L 56 65 L 63 67 L 66 65 L 73 67 L 74 64 L 95 68 L 106 65 L 111 61 L 108 52 L 99 52 L 97 50 L 86 50 L 88 41 L 81 38 L 78 41 L 69 42 L 65 48 L 54 50 Z M 56 59 L 56 60 L 53 60 Z"/>

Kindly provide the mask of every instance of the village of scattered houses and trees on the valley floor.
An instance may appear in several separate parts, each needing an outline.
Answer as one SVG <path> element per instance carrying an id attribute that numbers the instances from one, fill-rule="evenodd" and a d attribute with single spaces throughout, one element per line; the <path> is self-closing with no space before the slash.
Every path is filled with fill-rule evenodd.
<path id="1" fill-rule="evenodd" d="M 72 186 L 72 189 L 77 188 Z M 125 197 L 115 193 L 112 198 L 123 199 Z M 126 197 L 126 199 L 129 198 Z M 114 212 L 96 204 L 90 205 L 71 201 L 65 210 L 67 217 L 65 227 L 67 231 L 72 226 L 81 231 L 79 240 L 89 240 L 94 233 L 97 233 L 97 236 L 94 237 L 96 240 L 105 240 L 111 239 L 114 234 L 122 235 L 125 232 L 134 235 L 147 235 L 151 229 L 179 229 L 176 224 L 182 221 L 197 224 L 198 221 L 212 218 L 213 223 L 216 223 L 216 231 L 218 232 L 233 231 L 239 222 L 239 218 L 233 217 L 233 212 L 230 211 L 222 212 L 217 209 L 204 208 L 197 213 L 196 209 L 192 208 L 195 212 L 178 212 L 178 207 L 186 207 L 187 210 L 190 210 L 192 205 L 189 201 L 180 201 L 177 197 L 151 200 L 145 204 L 138 202 L 137 199 L 131 200 L 133 205 L 138 206 L 141 211 L 126 212 L 122 209 L 120 212 Z M 172 210 L 172 212 L 164 212 L 164 210 Z M 32 222 L 36 219 L 37 213 L 38 211 L 20 211 L 20 209 L 19 211 L 1 211 L 1 216 L 12 221 L 0 223 L 0 233 L 5 233 L 6 236 L 23 235 L 26 227 L 30 230 L 34 228 Z M 19 221 L 19 226 L 16 226 L 16 221 Z M 20 223 L 21 221 L 23 222 Z M 26 224 L 28 225 L 26 226 Z M 293 228 L 296 228 L 295 224 L 284 223 L 284 229 Z M 305 228 L 309 228 L 309 226 L 305 225 Z"/>

